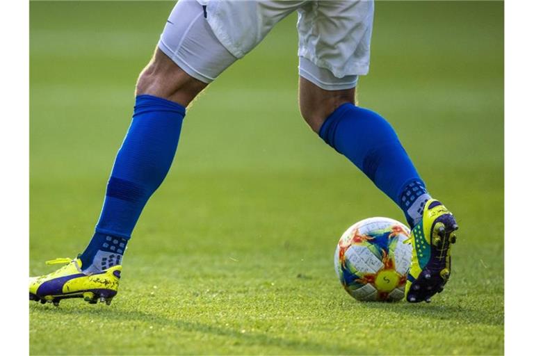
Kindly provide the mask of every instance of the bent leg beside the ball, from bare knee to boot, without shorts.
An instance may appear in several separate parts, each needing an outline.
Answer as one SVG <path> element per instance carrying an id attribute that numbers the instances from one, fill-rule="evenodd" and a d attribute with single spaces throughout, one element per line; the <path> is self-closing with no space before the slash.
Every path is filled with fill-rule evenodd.
<path id="1" fill-rule="evenodd" d="M 413 245 L 407 300 L 428 301 L 448 281 L 458 225 L 430 197 L 393 127 L 378 113 L 355 106 L 354 95 L 354 88 L 325 90 L 300 78 L 300 111 L 309 126 L 403 209 Z"/>

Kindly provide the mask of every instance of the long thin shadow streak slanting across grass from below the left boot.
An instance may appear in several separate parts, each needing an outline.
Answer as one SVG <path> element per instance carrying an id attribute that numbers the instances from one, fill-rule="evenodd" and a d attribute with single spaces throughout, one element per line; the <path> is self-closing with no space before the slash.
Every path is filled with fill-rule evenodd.
<path id="1" fill-rule="evenodd" d="M 40 307 L 40 308 L 39 308 Z M 286 339 L 282 337 L 275 337 L 263 332 L 241 332 L 241 330 L 232 329 L 232 327 L 222 327 L 213 324 L 199 323 L 193 321 L 184 321 L 179 318 L 172 318 L 162 316 L 161 314 L 149 314 L 147 312 L 140 312 L 136 310 L 124 309 L 107 309 L 107 308 L 83 308 L 83 309 L 64 309 L 61 307 L 43 307 L 35 305 L 31 307 L 34 312 L 50 313 L 54 316 L 61 317 L 79 317 L 84 316 L 88 318 L 102 318 L 105 321 L 117 322 L 139 322 L 149 325 L 158 325 L 160 327 L 168 328 L 170 326 L 177 327 L 184 332 L 197 332 L 202 334 L 211 334 L 217 337 L 229 337 L 236 341 L 241 341 L 248 345 L 260 346 L 277 346 L 280 348 L 287 348 L 291 353 L 318 353 L 318 354 L 352 354 L 354 355 L 354 348 L 344 348 L 339 345 L 328 345 L 325 343 L 316 343 L 314 341 Z M 298 335 L 296 335 L 298 337 Z M 368 355 L 373 350 L 359 349 L 359 353 Z"/>

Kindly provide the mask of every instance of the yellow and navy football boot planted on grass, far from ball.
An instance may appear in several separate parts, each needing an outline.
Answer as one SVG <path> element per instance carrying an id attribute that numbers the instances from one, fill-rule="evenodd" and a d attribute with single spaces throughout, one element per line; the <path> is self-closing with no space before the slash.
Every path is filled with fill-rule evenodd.
<path id="1" fill-rule="evenodd" d="M 90 304 L 100 300 L 110 305 L 117 294 L 120 265 L 86 275 L 81 271 L 80 259 L 54 259 L 47 264 L 66 265 L 47 275 L 30 277 L 30 300 L 57 306 L 62 299 L 83 298 Z"/>

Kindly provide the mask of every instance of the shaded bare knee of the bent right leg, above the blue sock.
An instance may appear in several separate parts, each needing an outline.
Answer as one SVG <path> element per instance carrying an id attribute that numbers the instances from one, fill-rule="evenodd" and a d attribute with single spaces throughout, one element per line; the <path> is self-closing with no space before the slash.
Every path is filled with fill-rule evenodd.
<path id="1" fill-rule="evenodd" d="M 300 77 L 299 106 L 302 118 L 315 132 L 341 104 L 355 104 L 355 88 L 345 90 L 324 90 L 311 81 Z"/>

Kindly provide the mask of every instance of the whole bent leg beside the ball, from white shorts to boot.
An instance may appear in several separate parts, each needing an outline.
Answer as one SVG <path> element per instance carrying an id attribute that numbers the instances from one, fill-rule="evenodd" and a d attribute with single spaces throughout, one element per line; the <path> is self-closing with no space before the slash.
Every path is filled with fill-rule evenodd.
<path id="1" fill-rule="evenodd" d="M 429 301 L 448 281 L 458 225 L 430 197 L 393 127 L 378 113 L 355 106 L 357 76 L 369 70 L 372 23 L 372 1 L 323 1 L 316 11 L 301 14 L 300 111 L 325 143 L 403 210 L 413 245 L 406 298 Z"/>

